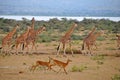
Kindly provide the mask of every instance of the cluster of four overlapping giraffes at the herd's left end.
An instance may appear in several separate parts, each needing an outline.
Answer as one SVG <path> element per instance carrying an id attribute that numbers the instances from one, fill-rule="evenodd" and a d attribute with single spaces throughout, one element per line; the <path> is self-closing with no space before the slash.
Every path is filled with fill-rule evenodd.
<path id="1" fill-rule="evenodd" d="M 3 39 L 2 39 L 2 52 L 9 53 L 11 48 L 16 48 L 16 54 L 18 54 L 18 47 L 22 46 L 22 50 L 24 48 L 28 49 L 28 45 L 32 43 L 32 48 L 35 47 L 35 42 L 37 35 L 40 34 L 42 31 L 46 30 L 45 26 L 40 27 L 39 29 L 35 30 L 34 29 L 34 23 L 35 20 L 32 18 L 31 20 L 32 24 L 27 27 L 27 30 L 18 36 L 15 40 L 15 44 L 12 45 L 12 38 L 14 34 L 16 33 L 17 29 L 19 28 L 19 25 L 16 25 L 16 27 L 9 32 Z M 35 47 L 36 48 L 36 47 Z M 20 49 L 21 50 L 21 49 Z"/>

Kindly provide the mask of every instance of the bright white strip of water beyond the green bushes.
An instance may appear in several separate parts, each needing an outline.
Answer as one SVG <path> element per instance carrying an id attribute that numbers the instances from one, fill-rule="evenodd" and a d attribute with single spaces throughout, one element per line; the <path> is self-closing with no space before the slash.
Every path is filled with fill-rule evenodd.
<path id="1" fill-rule="evenodd" d="M 84 18 L 86 19 L 109 19 L 112 21 L 120 21 L 120 17 L 71 17 L 71 16 L 13 16 L 13 15 L 0 15 L 0 18 L 5 18 L 5 19 L 15 19 L 15 20 L 22 20 L 22 18 L 26 18 L 28 20 L 31 20 L 32 18 L 35 18 L 35 20 L 44 20 L 48 21 L 53 18 L 57 18 L 61 20 L 62 18 L 66 19 L 74 19 L 78 21 L 82 21 Z"/>

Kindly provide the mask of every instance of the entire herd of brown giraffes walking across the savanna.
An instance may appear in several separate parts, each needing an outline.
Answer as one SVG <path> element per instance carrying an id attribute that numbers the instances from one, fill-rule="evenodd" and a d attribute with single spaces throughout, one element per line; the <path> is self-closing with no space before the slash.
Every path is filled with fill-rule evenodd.
<path id="1" fill-rule="evenodd" d="M 40 34 L 42 31 L 46 30 L 45 26 L 40 27 L 39 29 L 35 30 L 34 29 L 35 25 L 35 19 L 34 17 L 31 20 L 31 25 L 27 27 L 27 30 L 22 33 L 20 36 L 18 36 L 15 40 L 14 45 L 12 45 L 12 38 L 15 35 L 17 29 L 19 28 L 19 25 L 17 24 L 16 27 L 9 32 L 3 39 L 2 39 L 2 52 L 9 53 L 11 48 L 15 47 L 16 54 L 18 54 L 18 47 L 20 46 L 20 50 L 24 50 L 24 48 L 27 48 L 29 50 L 29 45 L 32 44 L 32 49 L 37 48 L 35 46 L 37 35 Z M 73 26 L 65 33 L 65 35 L 59 40 L 59 45 L 57 47 L 57 56 L 59 56 L 61 44 L 63 45 L 63 56 L 66 56 L 66 44 L 69 44 L 70 50 L 73 56 L 73 51 L 72 51 L 72 45 L 71 45 L 71 35 L 74 31 L 74 29 L 77 27 L 77 23 L 74 23 Z M 103 34 L 103 31 L 96 31 L 96 27 L 94 27 L 90 33 L 84 38 L 83 40 L 83 45 L 82 45 L 82 50 L 85 50 L 85 47 L 87 48 L 83 52 L 84 54 L 89 53 L 91 54 L 92 52 L 92 47 L 96 46 L 96 39 L 97 37 L 101 36 Z M 116 35 L 117 38 L 117 46 L 120 48 L 120 35 Z"/>

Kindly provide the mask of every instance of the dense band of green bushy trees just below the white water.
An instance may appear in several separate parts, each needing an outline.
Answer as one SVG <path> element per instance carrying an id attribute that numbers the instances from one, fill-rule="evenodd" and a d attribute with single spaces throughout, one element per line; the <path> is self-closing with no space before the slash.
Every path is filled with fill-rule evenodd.
<path id="1" fill-rule="evenodd" d="M 48 21 L 36 21 L 35 28 L 45 25 L 49 31 L 57 30 L 58 32 L 64 32 L 68 30 L 74 22 L 78 23 L 76 31 L 89 30 L 93 26 L 96 26 L 98 29 L 108 30 L 109 32 L 113 33 L 120 33 L 120 21 L 115 22 L 109 19 L 84 18 L 82 21 L 78 21 L 74 19 L 68 20 L 67 18 L 62 18 L 61 20 L 53 18 Z M 31 24 L 31 21 L 26 18 L 22 18 L 22 20 L 0 18 L 0 31 L 9 32 L 16 24 L 20 25 L 20 30 L 24 30 L 28 25 Z"/>

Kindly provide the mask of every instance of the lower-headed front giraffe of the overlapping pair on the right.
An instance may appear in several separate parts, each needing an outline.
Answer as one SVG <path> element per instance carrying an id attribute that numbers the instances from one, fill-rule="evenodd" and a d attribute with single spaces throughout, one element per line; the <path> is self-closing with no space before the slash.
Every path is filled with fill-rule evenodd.
<path id="1" fill-rule="evenodd" d="M 102 31 L 101 32 L 96 32 L 94 34 L 92 34 L 90 37 L 84 39 L 83 41 L 83 46 L 84 44 L 86 44 L 86 47 L 88 49 L 88 51 L 90 52 L 91 54 L 91 47 L 94 45 L 97 49 L 97 46 L 96 46 L 96 39 L 102 35 Z M 83 48 L 84 49 L 84 48 Z"/>

